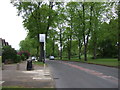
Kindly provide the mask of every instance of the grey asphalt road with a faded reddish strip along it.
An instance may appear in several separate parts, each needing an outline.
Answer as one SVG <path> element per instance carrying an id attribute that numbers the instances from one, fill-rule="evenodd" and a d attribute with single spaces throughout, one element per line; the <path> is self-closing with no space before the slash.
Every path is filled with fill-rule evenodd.
<path id="1" fill-rule="evenodd" d="M 47 60 L 56 88 L 118 88 L 118 69 L 79 62 Z"/>

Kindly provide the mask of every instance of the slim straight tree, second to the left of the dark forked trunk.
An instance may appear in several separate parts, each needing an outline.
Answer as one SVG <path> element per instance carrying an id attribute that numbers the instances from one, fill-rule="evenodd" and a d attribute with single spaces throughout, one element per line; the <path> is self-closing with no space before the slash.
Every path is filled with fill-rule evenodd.
<path id="1" fill-rule="evenodd" d="M 74 15 L 76 11 L 77 3 L 76 2 L 69 2 L 66 5 L 66 14 L 67 18 L 66 21 L 68 23 L 67 33 L 68 33 L 68 59 L 71 59 L 71 51 L 72 51 L 72 39 L 73 39 L 73 31 L 74 31 Z"/>

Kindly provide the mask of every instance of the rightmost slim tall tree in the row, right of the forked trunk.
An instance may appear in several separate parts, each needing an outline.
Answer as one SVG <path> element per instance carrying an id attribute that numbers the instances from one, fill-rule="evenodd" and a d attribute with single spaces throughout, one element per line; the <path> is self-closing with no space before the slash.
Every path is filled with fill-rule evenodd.
<path id="1" fill-rule="evenodd" d="M 100 24 L 102 23 L 102 16 L 105 13 L 104 3 L 94 2 L 93 3 L 93 17 L 92 17 L 92 31 L 90 32 L 90 43 L 92 44 L 93 59 L 96 59 L 97 55 L 97 42 L 100 30 Z"/>

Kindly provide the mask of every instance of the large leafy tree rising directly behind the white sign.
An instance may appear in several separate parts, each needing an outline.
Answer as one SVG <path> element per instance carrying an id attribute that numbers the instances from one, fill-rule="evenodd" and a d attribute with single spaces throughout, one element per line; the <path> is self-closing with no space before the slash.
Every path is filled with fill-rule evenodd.
<path id="1" fill-rule="evenodd" d="M 49 5 L 43 2 L 12 2 L 17 7 L 19 13 L 23 15 L 24 27 L 28 30 L 32 38 L 37 37 L 39 42 L 39 34 L 48 34 L 49 27 L 54 21 L 55 12 L 52 10 L 53 2 Z M 46 12 L 44 12 L 46 11 Z M 41 46 L 41 44 L 39 45 Z M 42 47 L 40 47 L 41 50 Z M 37 51 L 39 47 L 37 46 Z M 41 58 L 40 58 L 40 61 Z"/>

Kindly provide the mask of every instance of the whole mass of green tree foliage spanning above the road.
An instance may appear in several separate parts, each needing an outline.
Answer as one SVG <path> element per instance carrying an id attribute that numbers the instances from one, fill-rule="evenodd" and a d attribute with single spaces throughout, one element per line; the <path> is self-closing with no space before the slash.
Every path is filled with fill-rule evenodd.
<path id="1" fill-rule="evenodd" d="M 26 39 L 20 42 L 20 50 L 38 56 L 38 35 L 44 33 L 47 36 L 47 57 L 58 56 L 59 52 L 63 57 L 93 52 L 100 57 L 117 57 L 116 2 L 16 1 L 13 4 L 22 15 L 23 25 L 28 31 Z"/>

